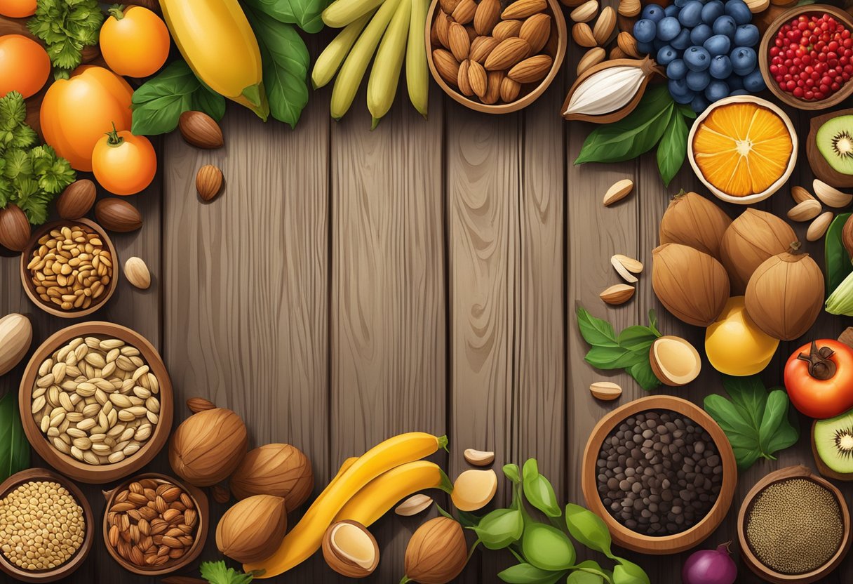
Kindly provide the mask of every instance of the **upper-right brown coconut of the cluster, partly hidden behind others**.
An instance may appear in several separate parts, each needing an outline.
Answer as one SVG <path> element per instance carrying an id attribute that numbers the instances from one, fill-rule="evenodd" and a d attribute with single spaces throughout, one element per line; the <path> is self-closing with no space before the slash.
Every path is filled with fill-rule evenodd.
<path id="1" fill-rule="evenodd" d="M 732 282 L 732 294 L 742 295 L 752 272 L 797 241 L 791 225 L 774 214 L 746 209 L 732 221 L 720 245 L 720 261 Z"/>

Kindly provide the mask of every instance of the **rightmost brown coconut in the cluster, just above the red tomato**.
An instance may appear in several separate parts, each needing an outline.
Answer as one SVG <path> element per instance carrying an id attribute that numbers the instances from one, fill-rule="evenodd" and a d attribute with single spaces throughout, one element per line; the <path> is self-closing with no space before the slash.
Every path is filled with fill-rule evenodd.
<path id="1" fill-rule="evenodd" d="M 800 244 L 758 266 L 746 287 L 746 312 L 769 336 L 792 341 L 815 324 L 823 307 L 823 272 Z"/>

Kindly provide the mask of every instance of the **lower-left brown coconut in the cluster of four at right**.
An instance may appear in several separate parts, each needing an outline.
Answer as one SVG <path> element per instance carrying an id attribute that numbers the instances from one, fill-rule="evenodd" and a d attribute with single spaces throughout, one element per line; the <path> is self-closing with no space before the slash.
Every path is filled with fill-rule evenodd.
<path id="1" fill-rule="evenodd" d="M 679 243 L 652 251 L 652 289 L 666 309 L 688 324 L 708 326 L 726 306 L 728 275 L 711 255 Z"/>

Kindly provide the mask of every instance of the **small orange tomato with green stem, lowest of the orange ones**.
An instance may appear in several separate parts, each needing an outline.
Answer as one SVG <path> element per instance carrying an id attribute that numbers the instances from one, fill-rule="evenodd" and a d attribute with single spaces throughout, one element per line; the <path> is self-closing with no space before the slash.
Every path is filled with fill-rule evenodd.
<path id="1" fill-rule="evenodd" d="M 92 172 L 115 195 L 136 195 L 154 180 L 157 154 L 147 137 L 110 131 L 92 151 Z"/>

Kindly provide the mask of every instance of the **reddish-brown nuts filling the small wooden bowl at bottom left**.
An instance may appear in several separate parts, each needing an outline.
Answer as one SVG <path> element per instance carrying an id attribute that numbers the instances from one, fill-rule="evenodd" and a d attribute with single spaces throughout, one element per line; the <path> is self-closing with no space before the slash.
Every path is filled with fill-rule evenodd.
<path id="1" fill-rule="evenodd" d="M 160 568 L 193 546 L 199 516 L 193 499 L 171 482 L 142 479 L 116 495 L 107 542 L 140 568 Z"/>

